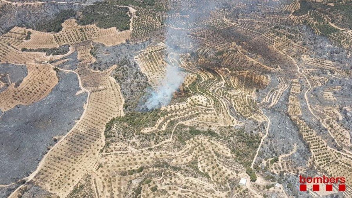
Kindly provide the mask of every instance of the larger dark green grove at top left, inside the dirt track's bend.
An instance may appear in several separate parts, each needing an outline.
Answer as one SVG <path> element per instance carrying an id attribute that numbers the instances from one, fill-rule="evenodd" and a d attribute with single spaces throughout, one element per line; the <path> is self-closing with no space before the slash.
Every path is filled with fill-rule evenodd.
<path id="1" fill-rule="evenodd" d="M 104 29 L 116 27 L 120 31 L 128 30 L 130 29 L 129 12 L 127 7 L 90 5 L 84 7 L 78 23 L 81 25 L 96 24 L 96 26 Z"/>

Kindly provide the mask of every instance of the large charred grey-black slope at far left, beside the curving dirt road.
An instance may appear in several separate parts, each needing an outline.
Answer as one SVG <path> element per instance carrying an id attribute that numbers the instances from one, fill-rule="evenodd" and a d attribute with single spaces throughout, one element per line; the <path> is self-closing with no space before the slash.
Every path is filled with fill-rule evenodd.
<path id="1" fill-rule="evenodd" d="M 14 68 L 20 72 L 22 67 Z M 18 105 L 1 116 L 0 133 L 8 132 L 0 138 L 0 167 L 6 169 L 0 171 L 3 184 L 11 184 L 32 173 L 48 148 L 56 143 L 53 137 L 65 135 L 74 126 L 74 120 L 81 117 L 87 94 L 76 95 L 81 90 L 77 75 L 64 72 L 58 75 L 61 79 L 48 96 L 30 105 Z M 16 78 L 21 80 L 21 76 Z M 6 157 L 12 160 L 4 160 Z"/>

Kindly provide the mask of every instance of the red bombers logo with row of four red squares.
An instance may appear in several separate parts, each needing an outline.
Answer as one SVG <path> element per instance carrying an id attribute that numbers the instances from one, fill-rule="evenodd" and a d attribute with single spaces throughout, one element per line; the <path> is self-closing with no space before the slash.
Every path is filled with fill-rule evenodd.
<path id="1" fill-rule="evenodd" d="M 333 191 L 332 185 L 339 184 L 339 191 L 346 191 L 346 178 L 344 177 L 303 177 L 300 175 L 300 191 L 307 191 L 307 183 L 313 184 L 313 191 L 320 190 L 320 183 L 325 184 L 326 191 Z"/>

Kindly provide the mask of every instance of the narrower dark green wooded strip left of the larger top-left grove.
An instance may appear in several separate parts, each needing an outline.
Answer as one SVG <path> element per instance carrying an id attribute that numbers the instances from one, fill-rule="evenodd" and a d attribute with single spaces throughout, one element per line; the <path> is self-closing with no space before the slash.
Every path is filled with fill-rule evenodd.
<path id="1" fill-rule="evenodd" d="M 52 19 L 37 24 L 35 29 L 43 32 L 59 32 L 60 30 L 62 30 L 61 24 L 65 20 L 75 16 L 76 12 L 74 10 L 62 10 L 59 13 L 55 14 Z"/>

